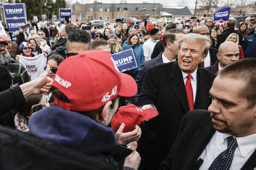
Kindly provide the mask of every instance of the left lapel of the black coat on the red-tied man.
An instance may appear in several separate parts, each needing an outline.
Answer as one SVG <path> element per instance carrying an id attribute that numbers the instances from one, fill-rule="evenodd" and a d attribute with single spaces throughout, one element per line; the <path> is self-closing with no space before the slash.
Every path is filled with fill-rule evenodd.
<path id="1" fill-rule="evenodd" d="M 177 61 L 173 64 L 170 72 L 170 79 L 172 80 L 170 86 L 172 87 L 175 96 L 179 99 L 182 108 L 184 108 L 185 112 L 190 111 L 184 80 Z"/>

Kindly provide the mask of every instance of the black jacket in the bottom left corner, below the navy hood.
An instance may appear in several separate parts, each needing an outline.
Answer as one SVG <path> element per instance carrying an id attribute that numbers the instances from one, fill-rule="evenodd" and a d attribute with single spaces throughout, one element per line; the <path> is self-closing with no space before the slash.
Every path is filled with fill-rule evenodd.
<path id="1" fill-rule="evenodd" d="M 124 159 L 132 151 L 117 146 L 108 152 L 108 161 L 59 146 L 43 138 L 23 131 L 0 125 L 0 169 L 118 169 L 117 161 Z"/>

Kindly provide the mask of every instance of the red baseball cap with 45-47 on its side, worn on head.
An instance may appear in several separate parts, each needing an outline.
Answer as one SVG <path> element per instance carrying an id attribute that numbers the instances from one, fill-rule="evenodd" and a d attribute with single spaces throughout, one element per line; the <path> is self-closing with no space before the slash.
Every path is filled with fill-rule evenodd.
<path id="1" fill-rule="evenodd" d="M 105 51 L 85 51 L 63 60 L 52 86 L 71 103 L 54 96 L 55 103 L 65 110 L 92 111 L 117 96 L 132 97 L 137 84 L 128 74 L 120 73 Z"/>

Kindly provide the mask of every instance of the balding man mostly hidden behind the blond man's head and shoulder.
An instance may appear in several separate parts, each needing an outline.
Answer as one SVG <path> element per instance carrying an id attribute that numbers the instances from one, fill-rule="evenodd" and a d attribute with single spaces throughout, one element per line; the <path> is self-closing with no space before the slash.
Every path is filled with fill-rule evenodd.
<path id="1" fill-rule="evenodd" d="M 210 37 L 209 28 L 206 26 L 198 26 L 194 28 L 193 33 Z M 200 67 L 204 68 L 204 67 L 209 67 L 214 65 L 215 62 L 217 61 L 217 57 L 216 57 L 217 52 L 218 52 L 217 49 L 215 49 L 214 47 L 210 47 L 205 60 L 200 63 Z"/>

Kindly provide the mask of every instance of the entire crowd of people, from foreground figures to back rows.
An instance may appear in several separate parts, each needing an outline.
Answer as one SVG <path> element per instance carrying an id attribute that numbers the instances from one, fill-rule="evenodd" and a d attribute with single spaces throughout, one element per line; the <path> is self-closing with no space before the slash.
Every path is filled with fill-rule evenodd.
<path id="1" fill-rule="evenodd" d="M 12 154 L 0 160 L 12 169 L 256 167 L 255 18 L 127 21 L 102 33 L 42 23 L 7 35 L 0 143 Z M 111 55 L 127 49 L 137 67 L 120 73 Z"/>

